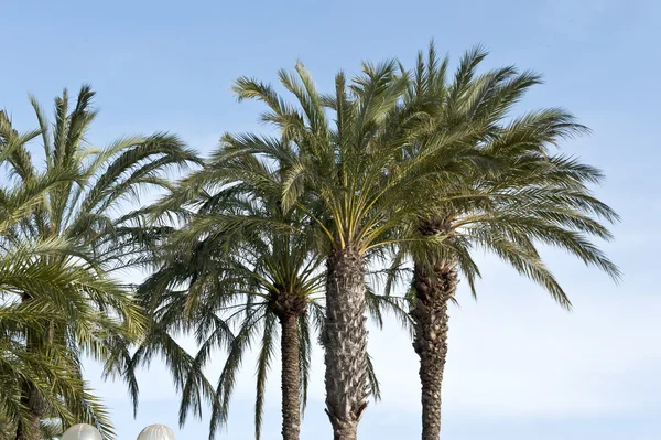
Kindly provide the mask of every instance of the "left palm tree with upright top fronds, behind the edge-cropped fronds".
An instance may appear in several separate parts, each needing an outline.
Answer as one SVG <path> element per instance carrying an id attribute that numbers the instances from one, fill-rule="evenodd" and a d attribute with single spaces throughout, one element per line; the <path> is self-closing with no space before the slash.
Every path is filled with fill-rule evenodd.
<path id="1" fill-rule="evenodd" d="M 40 331 L 25 329 L 20 341 L 34 356 L 43 357 L 55 347 L 62 350 L 59 357 L 68 359 L 68 364 L 63 361 L 58 366 L 64 369 L 73 365 L 67 371 L 79 382 L 82 353 L 108 361 L 109 342 L 132 340 L 143 329 L 142 313 L 131 292 L 108 273 L 123 267 L 118 244 L 137 232 L 131 224 L 136 215 L 112 214 L 122 207 L 126 211 L 126 200 L 137 196 L 143 187 L 169 187 L 160 175 L 162 171 L 196 161 L 178 139 L 163 133 L 122 138 L 101 150 L 88 146 L 86 132 L 97 115 L 91 108 L 93 97 L 89 86 L 83 86 L 69 111 L 65 90 L 55 99 L 53 127 L 31 97 L 40 129 L 29 136 L 19 135 L 0 114 L 0 140 L 10 146 L 2 159 L 13 184 L 3 190 L 2 198 L 24 202 L 8 205 L 23 208 L 13 210 L 14 215 L 2 225 L 0 248 L 8 258 L 26 255 L 15 264 L 12 260 L 8 270 L 34 273 L 34 278 L 10 279 L 13 285 L 6 281 L 3 291 L 24 307 L 47 304 L 61 311 L 59 316 L 54 314 L 42 322 Z M 26 148 L 26 142 L 39 135 L 44 169 L 34 165 Z M 25 249 L 44 246 L 51 250 L 25 254 Z M 37 285 L 37 280 L 50 281 L 51 286 Z M 29 380 L 21 383 L 21 404 L 28 408 L 29 417 L 28 421 L 19 421 L 17 439 L 33 439 L 41 420 L 50 416 L 53 401 L 46 401 L 47 396 Z M 69 409 L 75 405 L 66 395 L 61 398 Z M 82 417 L 82 412 L 75 417 Z"/>

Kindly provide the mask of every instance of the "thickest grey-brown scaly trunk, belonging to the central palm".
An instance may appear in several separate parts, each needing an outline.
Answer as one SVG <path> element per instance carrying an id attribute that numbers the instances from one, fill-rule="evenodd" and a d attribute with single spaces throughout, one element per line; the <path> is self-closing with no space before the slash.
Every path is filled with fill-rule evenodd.
<path id="1" fill-rule="evenodd" d="M 365 261 L 348 248 L 328 258 L 326 412 L 335 440 L 355 440 L 368 403 Z"/>

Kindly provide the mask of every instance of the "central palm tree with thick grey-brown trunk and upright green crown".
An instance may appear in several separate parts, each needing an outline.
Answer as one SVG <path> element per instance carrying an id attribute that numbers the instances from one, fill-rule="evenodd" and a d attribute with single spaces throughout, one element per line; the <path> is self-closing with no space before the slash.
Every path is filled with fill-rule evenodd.
<path id="1" fill-rule="evenodd" d="M 241 77 L 239 99 L 258 99 L 269 111 L 262 120 L 279 129 L 279 139 L 245 135 L 234 138 L 215 160 L 219 183 L 250 181 L 270 184 L 271 178 L 242 165 L 247 157 L 273 161 L 282 175 L 284 212 L 304 212 L 321 230 L 319 253 L 326 257 L 326 319 L 323 331 L 326 364 L 326 411 L 335 439 L 355 439 L 368 404 L 366 270 L 370 256 L 399 238 L 393 233 L 413 212 L 412 202 L 431 173 L 435 183 L 448 179 L 463 150 L 445 163 L 415 157 L 393 169 L 407 142 L 404 129 L 416 120 L 418 108 L 402 106 L 409 85 L 398 63 L 365 64 L 347 84 L 335 78 L 335 94 L 319 94 L 305 68 L 279 73 L 294 95 L 288 104 L 274 89 Z M 335 124 L 329 124 L 332 111 Z M 457 143 L 447 139 L 444 144 Z M 458 143 L 457 143 L 458 146 Z M 431 183 L 427 182 L 427 183 Z"/>

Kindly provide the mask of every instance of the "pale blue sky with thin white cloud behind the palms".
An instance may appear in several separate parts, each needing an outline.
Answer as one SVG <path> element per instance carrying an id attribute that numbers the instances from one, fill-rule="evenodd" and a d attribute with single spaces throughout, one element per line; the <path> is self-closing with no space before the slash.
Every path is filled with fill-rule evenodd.
<path id="1" fill-rule="evenodd" d="M 202 152 L 225 131 L 261 129 L 259 106 L 238 105 L 229 88 L 239 75 L 273 81 L 302 60 L 328 89 L 337 69 L 361 60 L 398 56 L 410 64 L 434 37 L 456 61 L 476 43 L 486 64 L 517 64 L 546 84 L 524 108 L 562 106 L 589 126 L 590 137 L 564 151 L 602 168 L 597 193 L 621 215 L 617 240 L 605 245 L 625 278 L 615 286 L 567 256 L 548 259 L 575 303 L 563 312 L 532 283 L 490 257 L 483 259 L 479 301 L 459 291 L 452 311 L 444 388 L 446 439 L 648 440 L 661 432 L 661 3 L 655 1 L 9 1 L 3 31 L 0 108 L 17 126 L 34 127 L 26 93 L 44 104 L 82 83 L 98 92 L 101 114 L 90 141 L 169 130 Z M 370 352 L 383 401 L 370 405 L 361 438 L 408 439 L 420 432 L 416 362 L 394 322 L 373 330 Z M 323 412 L 323 365 L 316 353 L 303 438 L 329 438 Z M 218 354 L 212 379 L 223 364 Z M 224 438 L 250 439 L 253 364 L 246 363 Z M 176 426 L 176 396 L 154 362 L 141 379 L 133 420 L 121 384 L 87 374 L 107 399 L 119 439 L 144 426 Z M 269 383 L 264 436 L 279 438 L 277 369 Z M 181 440 L 206 437 L 191 421 Z"/>

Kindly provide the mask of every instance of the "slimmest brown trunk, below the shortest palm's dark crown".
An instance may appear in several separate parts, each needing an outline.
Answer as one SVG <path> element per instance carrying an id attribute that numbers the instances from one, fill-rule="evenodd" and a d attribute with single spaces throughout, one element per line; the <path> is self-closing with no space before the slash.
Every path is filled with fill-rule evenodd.
<path id="1" fill-rule="evenodd" d="M 282 325 L 282 438 L 299 440 L 301 431 L 301 380 L 299 371 L 299 316 L 284 313 Z"/>

